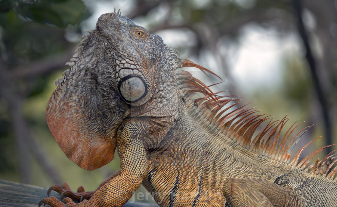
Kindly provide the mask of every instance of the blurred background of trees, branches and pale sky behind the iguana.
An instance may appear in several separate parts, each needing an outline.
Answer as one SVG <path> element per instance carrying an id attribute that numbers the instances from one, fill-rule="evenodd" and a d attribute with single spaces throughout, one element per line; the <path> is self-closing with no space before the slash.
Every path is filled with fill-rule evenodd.
<path id="1" fill-rule="evenodd" d="M 303 156 L 337 143 L 337 0 L 2 0 L 0 179 L 93 191 L 120 168 L 117 155 L 100 169 L 79 168 L 45 121 L 54 80 L 82 35 L 114 8 L 222 77 L 213 91 L 239 95 L 275 120 L 288 114 L 285 128 L 298 119 L 306 120 L 300 128 L 315 124 L 297 147 L 323 137 Z M 186 70 L 208 85 L 220 82 Z"/>

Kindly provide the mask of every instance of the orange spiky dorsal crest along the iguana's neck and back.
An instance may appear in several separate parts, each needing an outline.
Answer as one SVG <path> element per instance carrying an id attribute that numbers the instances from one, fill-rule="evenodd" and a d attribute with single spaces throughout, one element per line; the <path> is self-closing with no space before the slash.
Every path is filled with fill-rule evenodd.
<path id="1" fill-rule="evenodd" d="M 181 59 L 180 66 L 181 68 L 196 67 L 203 72 L 209 72 L 217 76 L 208 69 L 187 59 Z M 279 162 L 297 166 L 297 168 L 305 170 L 311 175 L 319 175 L 337 180 L 337 177 L 334 178 L 337 167 L 331 169 L 337 161 L 335 157 L 337 150 L 332 151 L 323 158 L 323 160 L 319 161 L 317 159 L 314 164 L 307 166 L 319 152 L 331 145 L 312 152 L 299 162 L 302 151 L 319 137 L 306 144 L 290 159 L 295 145 L 311 126 L 307 126 L 293 135 L 294 130 L 303 123 L 296 124 L 297 122 L 295 122 L 285 134 L 281 136 L 281 131 L 289 119 L 286 116 L 281 120 L 273 121 L 272 117 L 266 116 L 265 114 L 256 115 L 256 112 L 259 112 L 258 110 L 247 109 L 247 105 L 239 107 L 238 103 L 240 99 L 231 95 L 219 95 L 219 93 L 223 91 L 213 92 L 209 88 L 210 86 L 205 85 L 187 71 L 178 71 L 178 77 L 181 91 L 184 96 L 189 99 L 190 103 L 205 116 L 210 124 L 242 147 Z M 197 94 L 199 95 L 198 98 L 192 98 Z M 200 94 L 204 96 L 201 97 Z M 257 133 L 257 128 L 267 121 L 269 121 L 268 124 Z M 257 135 L 255 135 L 256 133 Z M 290 137 L 292 137 L 292 139 L 288 142 Z"/>

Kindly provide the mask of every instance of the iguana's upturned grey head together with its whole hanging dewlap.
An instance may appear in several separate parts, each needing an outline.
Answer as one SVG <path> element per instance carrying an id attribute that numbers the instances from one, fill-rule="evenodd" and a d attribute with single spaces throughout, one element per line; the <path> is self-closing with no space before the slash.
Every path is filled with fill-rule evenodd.
<path id="1" fill-rule="evenodd" d="M 55 82 L 46 117 L 67 157 L 93 170 L 114 158 L 119 126 L 153 95 L 163 42 L 118 12 L 89 33 Z"/>

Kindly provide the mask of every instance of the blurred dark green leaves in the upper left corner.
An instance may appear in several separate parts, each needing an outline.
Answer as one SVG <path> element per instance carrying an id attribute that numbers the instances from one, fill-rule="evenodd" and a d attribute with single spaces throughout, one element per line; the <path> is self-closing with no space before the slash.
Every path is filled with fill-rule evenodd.
<path id="1" fill-rule="evenodd" d="M 64 29 L 68 24 L 79 23 L 89 13 L 83 13 L 85 6 L 80 0 L 0 1 L 0 4 L 1 56 L 8 68 L 63 52 L 70 46 L 64 38 Z"/>

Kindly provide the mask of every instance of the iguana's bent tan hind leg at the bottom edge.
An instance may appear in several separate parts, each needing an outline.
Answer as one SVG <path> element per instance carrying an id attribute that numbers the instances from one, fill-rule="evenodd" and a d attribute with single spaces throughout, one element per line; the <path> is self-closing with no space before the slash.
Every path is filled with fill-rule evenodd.
<path id="1" fill-rule="evenodd" d="M 302 206 L 296 193 L 264 178 L 230 178 L 223 195 L 232 207 Z"/>

